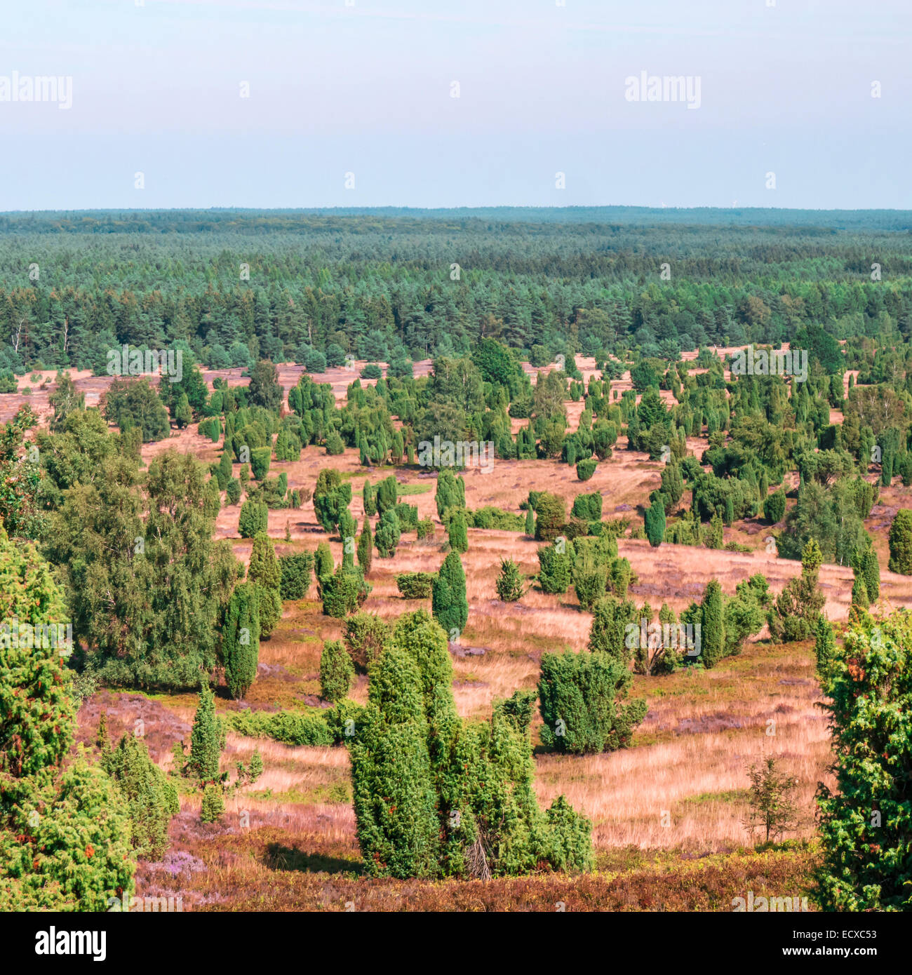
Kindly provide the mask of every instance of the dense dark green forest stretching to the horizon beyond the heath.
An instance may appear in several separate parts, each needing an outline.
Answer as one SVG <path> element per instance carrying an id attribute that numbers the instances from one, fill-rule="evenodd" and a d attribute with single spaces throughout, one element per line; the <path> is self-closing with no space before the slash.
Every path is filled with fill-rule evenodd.
<path id="1" fill-rule="evenodd" d="M 900 211 L 635 207 L 0 215 L 0 371 L 103 372 L 125 343 L 311 371 L 482 336 L 537 361 L 675 360 L 808 326 L 889 345 L 912 331 L 910 228 Z"/>

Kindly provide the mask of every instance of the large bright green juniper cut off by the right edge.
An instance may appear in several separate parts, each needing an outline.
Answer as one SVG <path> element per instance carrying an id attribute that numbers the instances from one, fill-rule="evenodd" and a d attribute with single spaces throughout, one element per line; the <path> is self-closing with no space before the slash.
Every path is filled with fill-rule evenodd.
<path id="1" fill-rule="evenodd" d="M 824 911 L 907 911 L 912 867 L 912 617 L 851 623 L 823 676 L 836 789 L 817 789 Z"/>

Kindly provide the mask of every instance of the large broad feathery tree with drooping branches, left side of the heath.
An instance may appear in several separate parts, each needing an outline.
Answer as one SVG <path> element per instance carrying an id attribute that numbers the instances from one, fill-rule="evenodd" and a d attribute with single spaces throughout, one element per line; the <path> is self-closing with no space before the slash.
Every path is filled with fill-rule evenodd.
<path id="1" fill-rule="evenodd" d="M 89 669 L 109 686 L 197 686 L 238 575 L 230 542 L 213 540 L 202 465 L 167 450 L 140 479 L 133 459 L 112 458 L 66 492 L 53 524 L 48 553 Z"/>

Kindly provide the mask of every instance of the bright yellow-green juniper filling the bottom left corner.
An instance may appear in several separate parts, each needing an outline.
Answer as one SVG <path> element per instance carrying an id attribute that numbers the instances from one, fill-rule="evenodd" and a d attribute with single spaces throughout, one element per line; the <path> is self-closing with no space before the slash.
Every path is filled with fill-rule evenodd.
<path id="1" fill-rule="evenodd" d="M 67 612 L 51 566 L 0 523 L 0 620 L 13 619 L 57 633 Z M 75 708 L 60 644 L 11 643 L 0 648 L 0 911 L 105 911 L 134 889 L 127 812 L 101 768 L 64 764 Z"/>

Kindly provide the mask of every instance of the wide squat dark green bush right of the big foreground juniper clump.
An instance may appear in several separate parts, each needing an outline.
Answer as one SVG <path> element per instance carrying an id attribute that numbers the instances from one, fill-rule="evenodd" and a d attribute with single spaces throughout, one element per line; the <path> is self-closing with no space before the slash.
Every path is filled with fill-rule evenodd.
<path id="1" fill-rule="evenodd" d="M 542 654 L 542 742 L 573 755 L 625 748 L 647 710 L 638 698 L 624 703 L 632 680 L 626 665 L 607 653 Z"/>

